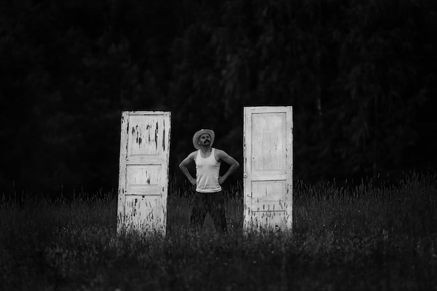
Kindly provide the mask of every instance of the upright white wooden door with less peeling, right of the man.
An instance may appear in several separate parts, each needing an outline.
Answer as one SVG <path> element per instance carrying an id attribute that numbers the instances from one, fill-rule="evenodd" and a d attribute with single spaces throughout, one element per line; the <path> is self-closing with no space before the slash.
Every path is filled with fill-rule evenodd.
<path id="1" fill-rule="evenodd" d="M 292 229 L 292 107 L 244 107 L 244 228 Z"/>

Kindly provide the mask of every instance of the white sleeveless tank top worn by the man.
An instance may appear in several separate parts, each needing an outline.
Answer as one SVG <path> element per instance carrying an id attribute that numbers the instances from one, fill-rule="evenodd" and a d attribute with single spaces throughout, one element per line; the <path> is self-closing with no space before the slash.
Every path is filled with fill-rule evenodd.
<path id="1" fill-rule="evenodd" d="M 195 157 L 195 177 L 197 183 L 195 191 L 200 193 L 214 193 L 221 191 L 221 186 L 218 184 L 220 163 L 216 161 L 214 151 L 215 149 L 213 148 L 209 157 L 202 158 L 200 155 L 200 149 L 198 150 L 198 156 Z"/>

